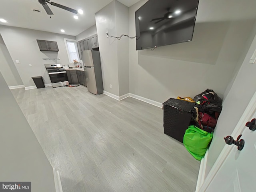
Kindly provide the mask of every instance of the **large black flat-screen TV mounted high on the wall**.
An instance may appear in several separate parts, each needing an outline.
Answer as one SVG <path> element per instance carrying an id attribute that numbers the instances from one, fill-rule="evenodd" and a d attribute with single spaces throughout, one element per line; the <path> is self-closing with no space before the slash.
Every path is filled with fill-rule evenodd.
<path id="1" fill-rule="evenodd" d="M 199 0 L 149 0 L 135 12 L 137 50 L 192 40 Z"/>

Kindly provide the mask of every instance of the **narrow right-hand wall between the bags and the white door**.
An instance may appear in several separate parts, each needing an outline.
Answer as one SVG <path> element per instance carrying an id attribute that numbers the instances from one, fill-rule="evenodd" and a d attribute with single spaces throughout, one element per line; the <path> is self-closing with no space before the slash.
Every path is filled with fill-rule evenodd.
<path id="1" fill-rule="evenodd" d="M 244 58 L 242 66 L 234 80 L 234 83 L 223 102 L 223 109 L 214 131 L 212 143 L 208 151 L 206 163 L 206 176 L 210 172 L 214 162 L 218 158 L 225 142 L 223 138 L 231 135 L 246 106 L 256 91 L 256 64 L 250 64 L 250 58 L 256 49 L 256 24 L 249 35 L 250 48 Z M 244 122 L 245 124 L 246 122 Z M 237 136 L 233 135 L 234 138 Z"/>

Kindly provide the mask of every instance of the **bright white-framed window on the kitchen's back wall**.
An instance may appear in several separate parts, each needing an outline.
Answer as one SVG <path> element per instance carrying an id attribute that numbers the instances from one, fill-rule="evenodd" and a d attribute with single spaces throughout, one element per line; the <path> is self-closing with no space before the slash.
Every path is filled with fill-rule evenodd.
<path id="1" fill-rule="evenodd" d="M 65 39 L 65 45 L 68 53 L 68 59 L 70 63 L 74 63 L 74 60 L 79 61 L 79 53 L 76 45 L 76 41 L 73 39 Z"/>

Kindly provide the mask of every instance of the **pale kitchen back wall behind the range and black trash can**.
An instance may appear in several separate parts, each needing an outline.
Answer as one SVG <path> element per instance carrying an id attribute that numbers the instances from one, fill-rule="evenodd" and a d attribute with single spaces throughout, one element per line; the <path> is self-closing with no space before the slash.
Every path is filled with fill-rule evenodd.
<path id="1" fill-rule="evenodd" d="M 51 83 L 44 64 L 69 64 L 64 38 L 75 39 L 74 36 L 3 25 L 0 25 L 0 34 L 25 87 L 35 85 L 31 78 L 33 76 L 43 76 L 45 84 Z M 56 41 L 60 51 L 40 51 L 36 42 L 37 39 Z M 60 58 L 60 60 L 44 61 L 43 58 Z M 16 64 L 15 60 L 19 60 L 20 64 Z M 32 67 L 29 64 L 32 64 Z"/>

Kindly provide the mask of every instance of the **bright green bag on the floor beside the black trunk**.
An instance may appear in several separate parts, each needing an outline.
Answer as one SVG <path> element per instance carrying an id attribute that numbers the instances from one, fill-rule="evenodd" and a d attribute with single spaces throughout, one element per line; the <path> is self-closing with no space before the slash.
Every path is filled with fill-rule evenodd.
<path id="1" fill-rule="evenodd" d="M 195 159 L 201 160 L 204 157 L 211 140 L 212 133 L 206 132 L 194 125 L 190 125 L 184 134 L 183 144 Z"/>

